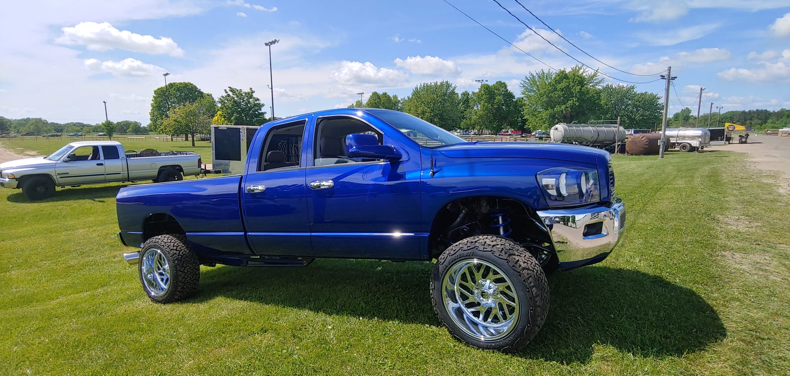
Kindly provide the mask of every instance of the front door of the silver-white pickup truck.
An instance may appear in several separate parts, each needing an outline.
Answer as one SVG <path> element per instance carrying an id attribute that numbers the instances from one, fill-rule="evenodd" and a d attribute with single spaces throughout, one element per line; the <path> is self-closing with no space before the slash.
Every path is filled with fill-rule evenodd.
<path id="1" fill-rule="evenodd" d="M 68 158 L 68 162 L 65 159 Z M 81 185 L 104 181 L 104 161 L 98 146 L 81 146 L 55 164 L 58 185 Z"/>

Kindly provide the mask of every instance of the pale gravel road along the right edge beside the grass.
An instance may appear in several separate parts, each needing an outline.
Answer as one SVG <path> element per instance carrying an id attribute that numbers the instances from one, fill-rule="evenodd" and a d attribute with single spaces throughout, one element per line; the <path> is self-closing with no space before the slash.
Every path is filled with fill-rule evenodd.
<path id="1" fill-rule="evenodd" d="M 749 154 L 754 167 L 781 173 L 781 188 L 790 193 L 790 137 L 754 135 L 749 143 L 732 143 L 712 150 L 739 151 Z"/>

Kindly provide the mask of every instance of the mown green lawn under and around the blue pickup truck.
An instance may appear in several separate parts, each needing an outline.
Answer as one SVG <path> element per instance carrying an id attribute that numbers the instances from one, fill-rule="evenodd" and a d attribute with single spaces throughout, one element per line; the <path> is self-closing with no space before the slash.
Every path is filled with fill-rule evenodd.
<path id="1" fill-rule="evenodd" d="M 121 257 L 120 184 L 0 189 L 0 374 L 790 374 L 790 196 L 744 155 L 616 156 L 623 242 L 549 277 L 513 355 L 438 326 L 431 263 L 204 266 L 160 305 Z"/>

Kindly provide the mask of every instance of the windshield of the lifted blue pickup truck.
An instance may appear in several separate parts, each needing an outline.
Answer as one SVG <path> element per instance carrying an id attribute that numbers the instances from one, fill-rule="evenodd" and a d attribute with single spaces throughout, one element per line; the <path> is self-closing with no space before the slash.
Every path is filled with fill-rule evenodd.
<path id="1" fill-rule="evenodd" d="M 404 112 L 391 110 L 366 111 L 388 122 L 389 125 L 397 128 L 399 131 L 403 132 L 404 135 L 408 136 L 408 138 L 414 140 L 423 147 L 442 147 L 466 142 L 466 140 L 453 135 L 453 133 L 447 132 L 419 117 L 413 117 Z"/>

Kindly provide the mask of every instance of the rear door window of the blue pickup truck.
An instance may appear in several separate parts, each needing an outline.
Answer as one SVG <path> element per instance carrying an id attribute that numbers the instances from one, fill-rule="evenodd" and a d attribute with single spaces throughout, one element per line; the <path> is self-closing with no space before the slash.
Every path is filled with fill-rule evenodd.
<path id="1" fill-rule="evenodd" d="M 258 171 L 292 169 L 300 166 L 305 121 L 269 130 L 258 157 Z"/>

